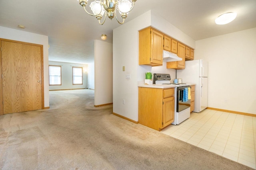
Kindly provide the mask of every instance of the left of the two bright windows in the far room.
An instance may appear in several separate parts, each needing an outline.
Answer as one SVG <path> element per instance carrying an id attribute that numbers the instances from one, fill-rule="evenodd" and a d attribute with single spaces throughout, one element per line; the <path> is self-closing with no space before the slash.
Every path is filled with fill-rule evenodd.
<path id="1" fill-rule="evenodd" d="M 61 66 L 49 65 L 49 85 L 61 85 Z"/>

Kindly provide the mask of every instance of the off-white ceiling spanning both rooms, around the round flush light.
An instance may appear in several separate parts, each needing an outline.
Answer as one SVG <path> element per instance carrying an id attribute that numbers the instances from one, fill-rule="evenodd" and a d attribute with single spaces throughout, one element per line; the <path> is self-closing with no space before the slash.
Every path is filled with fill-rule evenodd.
<path id="1" fill-rule="evenodd" d="M 256 27 L 256 0 L 137 0 L 125 22 L 148 10 L 194 40 Z M 237 12 L 236 19 L 216 25 L 216 17 L 226 12 Z M 120 24 L 108 18 L 98 24 L 77 0 L 0 0 L 0 26 L 47 35 L 49 61 L 88 64 L 94 62 L 94 39 L 106 34 L 112 43 L 113 29 Z"/>

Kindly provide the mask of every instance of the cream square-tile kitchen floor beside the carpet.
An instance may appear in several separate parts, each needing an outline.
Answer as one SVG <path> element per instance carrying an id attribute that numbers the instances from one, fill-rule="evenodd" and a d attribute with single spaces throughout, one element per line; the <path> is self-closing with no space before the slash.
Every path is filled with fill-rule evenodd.
<path id="1" fill-rule="evenodd" d="M 256 169 L 256 117 L 205 109 L 162 133 Z"/>

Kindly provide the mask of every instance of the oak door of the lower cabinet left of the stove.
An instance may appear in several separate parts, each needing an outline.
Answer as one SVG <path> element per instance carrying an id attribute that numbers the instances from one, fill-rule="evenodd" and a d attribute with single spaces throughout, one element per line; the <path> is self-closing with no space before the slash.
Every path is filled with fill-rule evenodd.
<path id="1" fill-rule="evenodd" d="M 166 98 L 163 102 L 162 128 L 170 125 L 174 121 L 174 97 Z"/>

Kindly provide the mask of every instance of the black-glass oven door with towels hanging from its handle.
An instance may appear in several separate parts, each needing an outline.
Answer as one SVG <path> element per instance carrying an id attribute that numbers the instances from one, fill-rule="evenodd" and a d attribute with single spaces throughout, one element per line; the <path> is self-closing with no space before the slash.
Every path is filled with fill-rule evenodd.
<path id="1" fill-rule="evenodd" d="M 177 112 L 180 112 L 190 107 L 190 99 L 186 101 L 186 99 L 184 98 L 185 88 L 191 88 L 191 86 L 177 87 Z"/>

